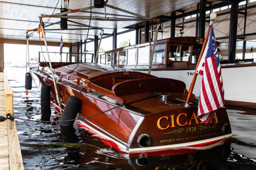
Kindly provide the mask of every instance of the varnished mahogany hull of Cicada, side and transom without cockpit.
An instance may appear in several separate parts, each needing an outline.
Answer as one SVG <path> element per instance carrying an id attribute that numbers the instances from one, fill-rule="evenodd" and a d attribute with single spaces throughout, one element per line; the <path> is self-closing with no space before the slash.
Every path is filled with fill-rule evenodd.
<path id="1" fill-rule="evenodd" d="M 39 69 L 34 69 L 33 72 L 39 77 L 41 84 L 45 84 L 47 74 Z M 51 77 L 48 78 L 47 84 L 52 89 L 52 103 L 58 108 Z M 69 97 L 77 96 L 83 86 L 78 83 L 69 83 L 65 79 L 59 79 L 57 88 L 59 96 L 63 100 L 61 109 L 64 109 Z M 150 93 L 140 95 L 134 94 L 137 98 L 143 98 L 150 95 Z M 179 94 L 175 93 L 173 95 L 178 96 Z M 86 117 L 118 106 L 116 104 L 118 103 L 117 100 L 112 99 L 112 102 L 109 99 L 103 100 L 92 95 L 90 90 L 80 93 L 78 98 L 82 100 L 82 108 L 78 113 L 78 117 Z M 133 101 L 132 97 L 129 96 L 122 97 L 122 99 L 127 102 L 130 102 L 129 99 Z M 140 112 L 142 111 L 139 106 L 143 105 L 143 103 L 145 104 L 145 102 L 151 105 L 152 108 L 156 104 L 156 110 L 160 106 L 167 109 L 158 113 L 148 112 L 141 114 Z M 143 153 L 154 155 L 154 153 L 159 154 L 163 151 L 177 152 L 179 150 L 177 153 L 180 153 L 180 151 L 184 150 L 183 153 L 187 153 L 205 150 L 223 144 L 226 139 L 232 136 L 231 132 L 229 134 L 223 134 L 222 132 L 224 124 L 230 126 L 224 108 L 216 111 L 210 123 L 204 124 L 196 118 L 196 106 L 189 108 L 184 106 L 173 108 L 169 106 L 168 108 L 158 97 L 137 102 L 136 104 L 133 107 L 115 108 L 100 115 L 78 120 L 76 123 L 90 133 L 97 135 L 108 146 L 121 153 L 129 153 L 130 156 L 138 156 Z M 141 134 L 147 134 L 150 137 L 150 146 L 139 146 L 137 139 Z"/>

